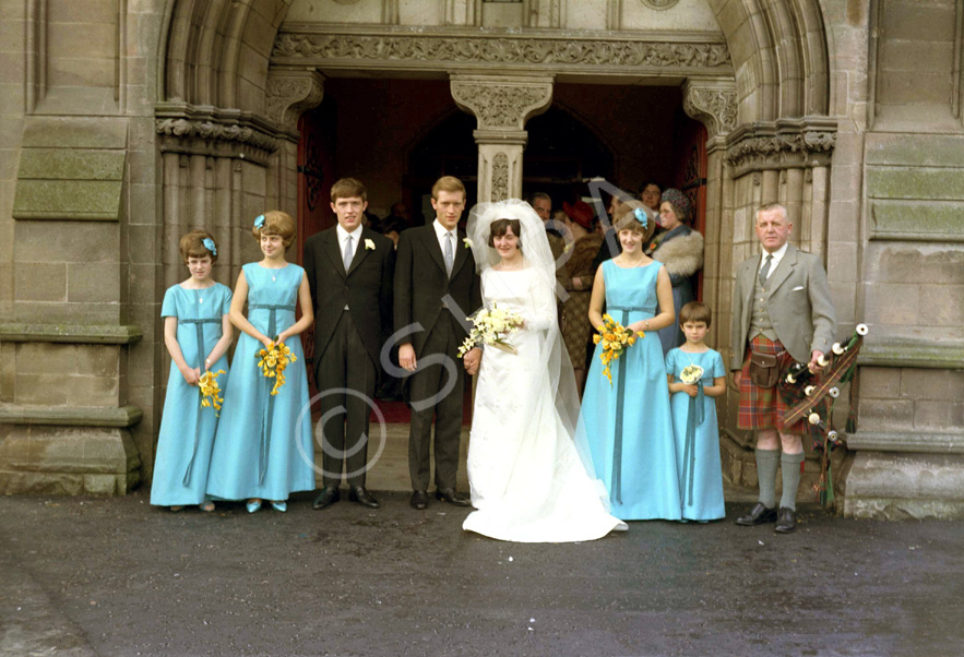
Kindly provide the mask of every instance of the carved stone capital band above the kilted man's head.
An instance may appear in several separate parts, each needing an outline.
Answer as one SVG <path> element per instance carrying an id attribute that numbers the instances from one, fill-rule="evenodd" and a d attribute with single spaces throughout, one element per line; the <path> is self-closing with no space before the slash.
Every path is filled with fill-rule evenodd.
<path id="1" fill-rule="evenodd" d="M 781 119 L 745 126 L 726 140 L 726 163 L 737 178 L 749 171 L 829 166 L 836 121 L 826 117 Z"/>

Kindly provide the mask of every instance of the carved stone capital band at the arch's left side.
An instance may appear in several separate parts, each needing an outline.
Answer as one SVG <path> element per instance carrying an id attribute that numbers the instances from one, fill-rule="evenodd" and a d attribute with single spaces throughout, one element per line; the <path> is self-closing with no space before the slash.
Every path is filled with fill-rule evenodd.
<path id="1" fill-rule="evenodd" d="M 154 130 L 164 153 L 236 157 L 261 165 L 281 143 L 274 126 L 251 112 L 187 104 L 159 104 Z"/>

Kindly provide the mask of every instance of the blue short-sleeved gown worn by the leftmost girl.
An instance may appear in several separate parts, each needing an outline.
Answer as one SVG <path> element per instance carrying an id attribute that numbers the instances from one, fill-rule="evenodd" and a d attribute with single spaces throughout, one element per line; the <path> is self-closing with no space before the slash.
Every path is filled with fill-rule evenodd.
<path id="1" fill-rule="evenodd" d="M 231 304 L 231 290 L 215 283 L 206 289 L 185 289 L 180 285 L 164 294 L 162 318 L 177 318 L 177 341 L 185 361 L 204 373 L 204 359 L 223 335 L 224 315 Z M 227 387 L 227 354 L 211 367 L 224 370 L 217 378 L 222 390 Z M 171 361 L 160 416 L 160 433 L 154 458 L 151 503 L 158 506 L 183 506 L 204 502 L 211 445 L 217 428 L 213 407 L 201 406 L 201 392 L 188 385 Z"/>

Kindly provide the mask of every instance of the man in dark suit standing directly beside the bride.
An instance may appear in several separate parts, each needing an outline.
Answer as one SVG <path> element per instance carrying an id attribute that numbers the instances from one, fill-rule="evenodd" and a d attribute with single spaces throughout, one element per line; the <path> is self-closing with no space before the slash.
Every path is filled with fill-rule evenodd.
<path id="1" fill-rule="evenodd" d="M 457 350 L 466 337 L 462 321 L 481 306 L 472 249 L 467 248 L 465 232 L 459 230 L 465 186 L 452 176 L 440 178 L 432 186 L 431 203 L 436 219 L 402 232 L 395 266 L 398 362 L 413 372 L 407 381 L 412 406 L 409 503 L 418 510 L 428 506 L 432 418 L 436 499 L 459 506 L 471 504 L 455 491 L 465 390 Z M 464 366 L 469 373 L 478 369 L 480 357 L 479 349 L 465 355 Z"/>

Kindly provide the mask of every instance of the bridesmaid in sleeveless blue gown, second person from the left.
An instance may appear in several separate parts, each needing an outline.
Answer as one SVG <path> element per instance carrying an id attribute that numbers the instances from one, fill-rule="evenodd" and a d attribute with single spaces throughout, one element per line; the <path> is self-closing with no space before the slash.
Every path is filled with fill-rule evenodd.
<path id="1" fill-rule="evenodd" d="M 248 500 L 249 513 L 261 509 L 263 500 L 284 512 L 290 493 L 314 490 L 311 409 L 299 337 L 314 314 L 305 270 L 285 260 L 295 229 L 295 219 L 279 211 L 254 219 L 252 232 L 264 260 L 241 267 L 231 301 L 231 322 L 243 333 L 214 439 L 207 494 Z M 298 303 L 301 319 L 296 322 Z M 297 360 L 288 365 L 284 385 L 272 395 L 274 379 L 261 373 L 257 355 L 275 338 Z"/>

